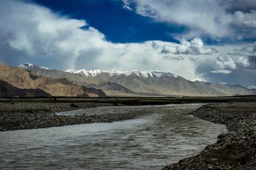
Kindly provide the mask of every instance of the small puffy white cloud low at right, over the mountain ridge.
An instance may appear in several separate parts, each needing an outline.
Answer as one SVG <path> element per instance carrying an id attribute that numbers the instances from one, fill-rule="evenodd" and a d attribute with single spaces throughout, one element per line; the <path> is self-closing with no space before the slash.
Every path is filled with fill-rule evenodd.
<path id="1" fill-rule="evenodd" d="M 220 54 L 219 57 L 217 57 L 217 62 L 214 69 L 214 71 L 211 71 L 212 73 L 230 74 L 234 69 L 236 69 L 236 64 L 234 60 L 227 57 L 227 55 Z"/>

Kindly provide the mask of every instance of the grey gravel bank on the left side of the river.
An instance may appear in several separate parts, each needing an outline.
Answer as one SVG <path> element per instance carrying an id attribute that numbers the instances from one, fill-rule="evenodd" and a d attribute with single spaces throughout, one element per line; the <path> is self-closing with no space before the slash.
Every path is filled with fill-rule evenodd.
<path id="1" fill-rule="evenodd" d="M 115 104 L 114 104 L 115 105 Z M 56 115 L 56 112 L 77 109 L 113 106 L 108 103 L 0 103 L 0 131 L 19 129 L 37 129 L 62 125 L 88 124 L 95 122 L 113 122 L 140 117 L 145 111 L 127 111 L 100 115 Z"/>

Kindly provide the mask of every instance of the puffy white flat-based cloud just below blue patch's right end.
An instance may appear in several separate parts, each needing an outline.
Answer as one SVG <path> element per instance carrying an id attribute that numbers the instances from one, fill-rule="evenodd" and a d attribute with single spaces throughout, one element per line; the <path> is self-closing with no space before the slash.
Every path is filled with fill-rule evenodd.
<path id="1" fill-rule="evenodd" d="M 207 48 L 204 46 L 202 39 L 194 38 L 190 42 L 186 41 L 186 39 L 182 39 L 177 46 L 164 46 L 161 53 L 210 55 L 212 53 L 218 53 L 218 50 L 215 48 Z"/>

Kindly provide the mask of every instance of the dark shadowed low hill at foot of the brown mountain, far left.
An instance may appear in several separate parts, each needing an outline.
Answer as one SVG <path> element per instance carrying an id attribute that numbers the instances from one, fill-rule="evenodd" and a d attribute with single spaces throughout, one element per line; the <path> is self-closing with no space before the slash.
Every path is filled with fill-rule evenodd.
<path id="1" fill-rule="evenodd" d="M 51 97 L 41 89 L 19 89 L 0 80 L 0 97 Z"/>

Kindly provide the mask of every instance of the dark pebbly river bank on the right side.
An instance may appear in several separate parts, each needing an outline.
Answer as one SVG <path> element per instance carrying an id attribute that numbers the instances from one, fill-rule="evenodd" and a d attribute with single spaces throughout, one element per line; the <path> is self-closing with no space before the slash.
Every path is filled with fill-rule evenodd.
<path id="1" fill-rule="evenodd" d="M 228 133 L 220 134 L 217 143 L 205 147 L 195 157 L 163 169 L 256 168 L 256 103 L 208 104 L 191 114 L 227 125 Z"/>

